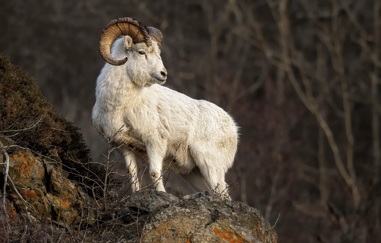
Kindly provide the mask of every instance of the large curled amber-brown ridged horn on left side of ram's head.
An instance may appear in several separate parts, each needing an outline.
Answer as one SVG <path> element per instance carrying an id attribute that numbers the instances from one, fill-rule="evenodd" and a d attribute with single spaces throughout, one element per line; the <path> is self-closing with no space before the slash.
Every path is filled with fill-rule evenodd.
<path id="1" fill-rule="evenodd" d="M 160 32 L 161 33 L 161 32 Z M 156 32 L 155 32 L 156 34 Z M 110 48 L 112 42 L 120 35 L 128 35 L 134 43 L 146 42 L 150 46 L 152 41 L 146 26 L 132 18 L 119 18 L 109 22 L 104 28 L 99 40 L 99 53 L 104 61 L 114 66 L 126 63 L 128 58 L 117 60 L 111 56 Z"/>

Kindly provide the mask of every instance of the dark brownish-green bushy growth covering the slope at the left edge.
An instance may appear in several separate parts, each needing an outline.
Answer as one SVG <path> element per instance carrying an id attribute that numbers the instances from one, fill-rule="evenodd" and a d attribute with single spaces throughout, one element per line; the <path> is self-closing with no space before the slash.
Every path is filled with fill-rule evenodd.
<path id="1" fill-rule="evenodd" d="M 41 120 L 37 126 L 12 137 L 19 145 L 43 152 L 56 148 L 68 166 L 72 164 L 70 158 L 80 162 L 90 160 L 79 128 L 56 112 L 38 90 L 36 80 L 11 64 L 3 53 L 0 53 L 0 97 L 0 129 L 26 129 Z"/>

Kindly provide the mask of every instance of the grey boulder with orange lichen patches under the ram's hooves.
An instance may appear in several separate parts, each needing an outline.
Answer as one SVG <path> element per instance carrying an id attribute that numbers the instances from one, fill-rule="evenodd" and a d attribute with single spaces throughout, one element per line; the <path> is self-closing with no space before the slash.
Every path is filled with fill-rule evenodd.
<path id="1" fill-rule="evenodd" d="M 136 201 L 137 198 L 133 199 Z M 149 205 L 149 202 L 153 204 Z M 142 242 L 278 241 L 276 232 L 258 209 L 238 201 L 223 200 L 212 192 L 198 192 L 179 199 L 147 190 L 129 206 L 134 210 L 139 206 L 142 211 L 149 212 Z"/>

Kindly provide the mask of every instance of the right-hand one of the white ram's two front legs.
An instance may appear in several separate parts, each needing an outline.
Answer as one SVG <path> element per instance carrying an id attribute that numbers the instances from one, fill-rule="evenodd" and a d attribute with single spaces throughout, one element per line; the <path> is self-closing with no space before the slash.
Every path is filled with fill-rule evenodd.
<path id="1" fill-rule="evenodd" d="M 162 192 L 165 192 L 162 164 L 166 154 L 166 147 L 166 143 L 147 146 L 149 175 L 152 182 L 154 182 L 155 189 Z"/>

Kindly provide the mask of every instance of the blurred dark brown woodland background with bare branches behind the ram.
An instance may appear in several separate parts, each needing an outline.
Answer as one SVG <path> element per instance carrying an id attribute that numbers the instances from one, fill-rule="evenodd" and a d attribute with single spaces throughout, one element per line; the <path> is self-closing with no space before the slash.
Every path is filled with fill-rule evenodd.
<path id="1" fill-rule="evenodd" d="M 241 127 L 226 181 L 281 242 L 381 242 L 381 0 L 9 0 L 0 51 L 38 78 L 91 157 L 100 34 L 131 17 L 163 32 L 166 86 Z M 147 177 L 148 178 L 148 177 Z M 170 174 L 168 192 L 195 190 Z"/>

